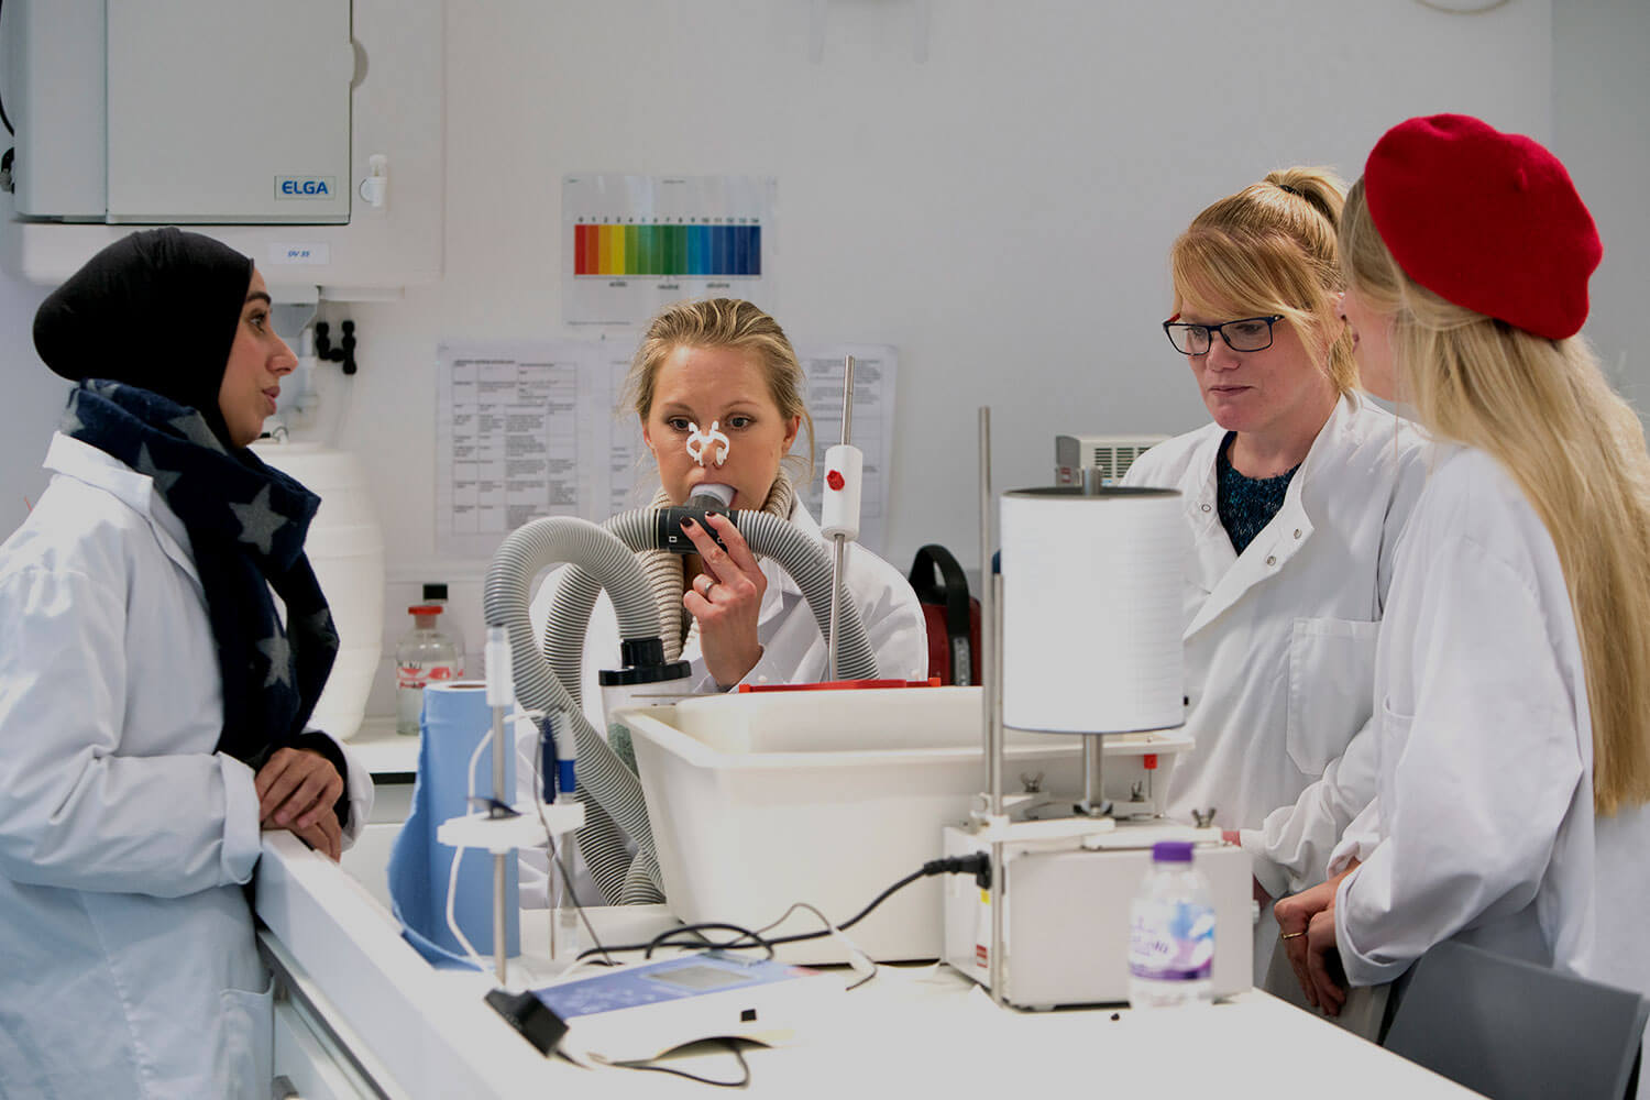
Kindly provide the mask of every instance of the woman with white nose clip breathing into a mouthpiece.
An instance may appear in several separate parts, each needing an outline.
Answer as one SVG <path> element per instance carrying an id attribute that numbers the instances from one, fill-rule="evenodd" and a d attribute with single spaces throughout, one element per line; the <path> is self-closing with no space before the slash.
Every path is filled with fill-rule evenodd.
<path id="1" fill-rule="evenodd" d="M 825 544 L 785 470 L 804 429 L 812 454 L 813 422 L 802 401 L 804 386 L 790 340 L 751 302 L 710 299 L 667 307 L 637 348 L 624 399 L 658 463 L 652 506 L 683 505 L 703 485 L 724 485 L 733 490 L 734 511 L 782 516 Z M 802 590 L 777 562 L 752 554 L 733 523 L 721 516 L 708 523 L 711 529 L 691 523 L 686 528 L 695 554 L 640 554 L 660 610 L 665 658 L 691 663 L 683 691 L 825 679 L 825 638 Z M 909 582 L 856 544 L 848 546 L 843 577 L 876 651 L 878 676 L 926 679 L 927 628 Z M 554 590 L 551 574 L 533 602 L 540 635 Z M 597 671 L 617 655 L 619 620 L 604 592 L 584 640 L 582 703 L 596 729 L 606 729 Z M 518 757 L 516 773 L 530 782 L 531 744 L 518 747 L 526 755 Z M 625 754 L 617 742 L 615 749 Z M 521 793 L 530 797 L 525 787 Z M 544 904 L 543 881 L 543 853 L 523 853 L 523 899 Z M 591 896 L 592 887 L 581 884 L 581 896 Z"/>

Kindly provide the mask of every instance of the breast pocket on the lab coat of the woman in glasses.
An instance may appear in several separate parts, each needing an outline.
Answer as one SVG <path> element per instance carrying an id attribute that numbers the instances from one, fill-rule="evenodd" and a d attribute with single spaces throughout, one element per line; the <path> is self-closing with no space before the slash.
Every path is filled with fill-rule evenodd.
<path id="1" fill-rule="evenodd" d="M 1317 778 L 1374 709 L 1378 622 L 1297 618 L 1289 638 L 1289 759 Z"/>

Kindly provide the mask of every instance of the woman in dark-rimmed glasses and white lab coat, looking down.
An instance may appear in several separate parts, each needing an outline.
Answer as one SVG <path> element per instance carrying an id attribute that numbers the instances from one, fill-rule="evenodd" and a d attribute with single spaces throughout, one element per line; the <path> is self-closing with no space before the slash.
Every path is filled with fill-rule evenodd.
<path id="1" fill-rule="evenodd" d="M 1127 485 L 1180 490 L 1186 732 L 1170 815 L 1216 811 L 1254 856 L 1257 896 L 1322 881 L 1374 792 L 1374 637 L 1422 442 L 1358 396 L 1338 317 L 1343 190 L 1274 172 L 1193 219 L 1170 251 L 1163 323 L 1213 424 L 1158 444 Z M 1262 899 L 1264 900 L 1264 899 Z M 1269 910 L 1262 905 L 1262 910 Z M 1275 945 L 1256 933 L 1256 973 Z"/>

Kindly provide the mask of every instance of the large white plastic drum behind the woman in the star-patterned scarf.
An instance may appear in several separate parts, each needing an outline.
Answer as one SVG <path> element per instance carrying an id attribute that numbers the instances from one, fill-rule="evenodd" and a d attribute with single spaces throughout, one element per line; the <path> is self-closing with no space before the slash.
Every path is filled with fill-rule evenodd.
<path id="1" fill-rule="evenodd" d="M 361 727 L 384 643 L 384 534 L 360 460 L 320 444 L 252 445 L 259 458 L 320 496 L 304 552 L 338 628 L 338 658 L 310 724 L 348 739 Z"/>

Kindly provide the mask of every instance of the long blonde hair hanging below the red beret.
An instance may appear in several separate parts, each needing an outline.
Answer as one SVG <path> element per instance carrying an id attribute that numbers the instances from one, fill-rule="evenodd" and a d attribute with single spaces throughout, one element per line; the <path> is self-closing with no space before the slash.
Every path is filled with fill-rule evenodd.
<path id="1" fill-rule="evenodd" d="M 1393 317 L 1399 396 L 1442 439 L 1490 454 L 1558 549 L 1592 712 L 1592 803 L 1650 801 L 1650 454 L 1581 336 L 1548 340 L 1414 282 L 1363 198 L 1341 223 L 1346 282 Z"/>

